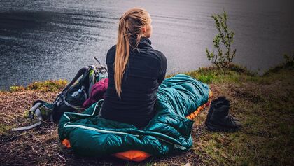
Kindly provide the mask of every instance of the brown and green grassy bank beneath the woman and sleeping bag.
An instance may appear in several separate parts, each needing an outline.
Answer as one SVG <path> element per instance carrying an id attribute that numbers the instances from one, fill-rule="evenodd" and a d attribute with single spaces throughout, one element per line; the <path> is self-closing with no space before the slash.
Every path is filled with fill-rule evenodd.
<path id="1" fill-rule="evenodd" d="M 186 73 L 208 83 L 214 98 L 230 99 L 230 113 L 242 123 L 234 133 L 208 132 L 208 109 L 195 119 L 193 148 L 187 153 L 150 158 L 140 165 L 294 165 L 293 63 L 256 76 L 236 65 L 223 75 L 214 68 Z M 34 85 L 33 85 L 34 84 Z M 25 132 L 10 132 L 28 124 L 24 118 L 36 99 L 52 101 L 66 82 L 33 83 L 0 92 L 0 162 L 3 165 L 134 165 L 116 158 L 83 158 L 60 144 L 57 125 L 43 123 Z"/>

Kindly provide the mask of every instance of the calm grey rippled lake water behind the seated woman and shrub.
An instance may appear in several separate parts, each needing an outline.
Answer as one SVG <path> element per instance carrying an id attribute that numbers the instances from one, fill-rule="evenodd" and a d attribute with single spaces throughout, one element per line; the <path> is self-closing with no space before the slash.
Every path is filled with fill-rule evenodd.
<path id="1" fill-rule="evenodd" d="M 264 71 L 294 51 L 292 7 L 277 1 L 0 1 L 0 88 L 70 80 L 80 67 L 105 63 L 118 18 L 141 6 L 153 18 L 152 46 L 165 53 L 168 73 L 209 66 L 205 48 L 216 34 L 212 13 L 228 11 L 235 62 Z"/>

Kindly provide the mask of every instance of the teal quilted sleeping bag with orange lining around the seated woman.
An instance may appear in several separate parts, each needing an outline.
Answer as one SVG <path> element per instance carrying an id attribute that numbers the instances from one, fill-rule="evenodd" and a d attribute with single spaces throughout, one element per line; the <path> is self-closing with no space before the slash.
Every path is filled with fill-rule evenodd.
<path id="1" fill-rule="evenodd" d="M 158 113 L 144 129 L 98 116 L 103 100 L 83 113 L 64 113 L 58 134 L 78 155 L 102 156 L 139 150 L 151 155 L 188 151 L 193 120 L 186 118 L 208 102 L 209 86 L 185 74 L 166 78 L 158 88 Z"/>

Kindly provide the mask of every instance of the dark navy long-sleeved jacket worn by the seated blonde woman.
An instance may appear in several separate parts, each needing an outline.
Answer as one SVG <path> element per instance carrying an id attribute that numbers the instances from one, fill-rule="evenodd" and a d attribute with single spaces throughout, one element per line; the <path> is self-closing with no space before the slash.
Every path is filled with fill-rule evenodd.
<path id="1" fill-rule="evenodd" d="M 151 41 L 142 37 L 137 49 L 130 50 L 130 57 L 123 74 L 120 98 L 116 91 L 113 64 L 116 46 L 106 57 L 109 69 L 109 88 L 102 106 L 101 116 L 106 119 L 144 127 L 155 115 L 156 92 L 165 78 L 167 59 L 151 47 Z"/>

